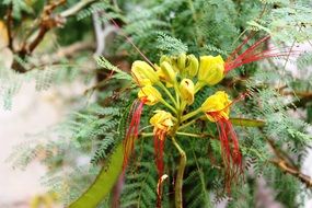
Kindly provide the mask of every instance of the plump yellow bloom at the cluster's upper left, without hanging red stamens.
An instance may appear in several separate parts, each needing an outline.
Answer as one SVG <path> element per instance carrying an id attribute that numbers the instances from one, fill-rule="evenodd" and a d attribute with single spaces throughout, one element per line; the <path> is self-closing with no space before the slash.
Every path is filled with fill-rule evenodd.
<path id="1" fill-rule="evenodd" d="M 136 60 L 131 67 L 131 73 L 139 85 L 151 85 L 159 82 L 159 77 L 153 68 L 146 61 Z"/>

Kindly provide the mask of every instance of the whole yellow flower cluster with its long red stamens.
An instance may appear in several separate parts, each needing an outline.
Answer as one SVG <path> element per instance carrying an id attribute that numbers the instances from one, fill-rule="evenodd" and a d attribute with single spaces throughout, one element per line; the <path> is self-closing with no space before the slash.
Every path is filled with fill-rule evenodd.
<path id="1" fill-rule="evenodd" d="M 163 175 L 163 151 L 165 139 L 172 138 L 177 147 L 175 136 L 180 130 L 203 116 L 216 123 L 219 134 L 221 154 L 224 166 L 226 185 L 242 173 L 242 154 L 239 139 L 229 119 L 233 102 L 224 91 L 211 94 L 194 112 L 187 112 L 196 94 L 206 86 L 212 86 L 222 81 L 227 73 L 242 65 L 264 58 L 285 56 L 274 48 L 262 51 L 262 45 L 268 41 L 266 36 L 243 53 L 240 53 L 249 42 L 245 39 L 224 61 L 221 56 L 200 56 L 181 54 L 178 56 L 162 56 L 159 63 L 137 60 L 132 63 L 131 74 L 139 86 L 138 99 L 130 111 L 131 119 L 125 139 L 124 169 L 127 165 L 134 142 L 139 136 L 139 125 L 145 105 L 158 105 L 159 109 L 150 118 L 153 127 L 155 163 L 159 177 Z M 201 115 L 200 115 L 201 114 Z M 188 134 L 189 136 L 192 134 Z M 180 148 L 177 148 L 180 149 Z"/>

